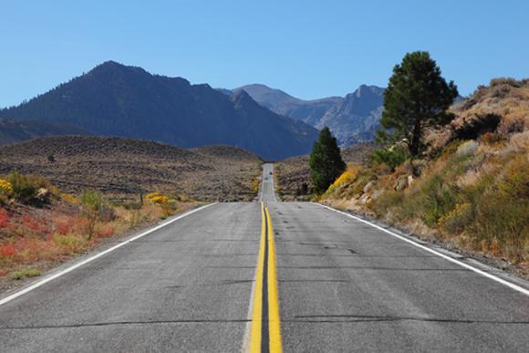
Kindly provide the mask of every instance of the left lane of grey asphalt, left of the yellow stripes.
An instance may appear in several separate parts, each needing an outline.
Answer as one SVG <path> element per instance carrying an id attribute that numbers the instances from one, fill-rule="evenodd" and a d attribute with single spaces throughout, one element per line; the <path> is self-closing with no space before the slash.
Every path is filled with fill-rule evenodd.
<path id="1" fill-rule="evenodd" d="M 0 306 L 0 351 L 240 351 L 260 207 L 215 204 Z"/>

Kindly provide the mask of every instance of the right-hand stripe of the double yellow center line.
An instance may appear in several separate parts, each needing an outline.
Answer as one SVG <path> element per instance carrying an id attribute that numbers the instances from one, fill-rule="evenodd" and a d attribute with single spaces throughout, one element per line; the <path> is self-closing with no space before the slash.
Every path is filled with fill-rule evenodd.
<path id="1" fill-rule="evenodd" d="M 281 342 L 281 321 L 279 317 L 279 296 L 277 292 L 277 272 L 275 267 L 275 242 L 272 218 L 265 209 L 268 220 L 268 323 L 270 332 L 270 351 L 283 351 Z"/>

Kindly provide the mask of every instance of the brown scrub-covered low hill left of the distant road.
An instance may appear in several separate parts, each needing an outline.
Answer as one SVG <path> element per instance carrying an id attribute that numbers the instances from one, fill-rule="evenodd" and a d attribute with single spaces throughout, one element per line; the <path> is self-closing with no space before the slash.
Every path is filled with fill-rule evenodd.
<path id="1" fill-rule="evenodd" d="M 88 136 L 40 138 L 0 148 L 0 175 L 37 173 L 64 192 L 98 189 L 118 198 L 167 192 L 202 201 L 251 201 L 260 163 L 254 153 L 231 146 L 189 151 L 146 140 Z"/>

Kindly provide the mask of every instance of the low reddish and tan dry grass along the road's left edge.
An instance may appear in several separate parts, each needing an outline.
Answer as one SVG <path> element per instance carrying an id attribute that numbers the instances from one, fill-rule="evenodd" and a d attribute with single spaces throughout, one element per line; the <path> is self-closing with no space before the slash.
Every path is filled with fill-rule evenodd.
<path id="1" fill-rule="evenodd" d="M 79 204 L 77 198 L 68 199 L 71 201 L 53 199 L 37 206 L 10 199 L 8 205 L 0 207 L 0 289 L 11 286 L 14 280 L 40 275 L 107 238 L 184 212 L 196 204 L 173 201 L 167 208 L 158 202 L 112 205 L 103 199 L 105 207 L 90 220 L 85 205 Z"/>

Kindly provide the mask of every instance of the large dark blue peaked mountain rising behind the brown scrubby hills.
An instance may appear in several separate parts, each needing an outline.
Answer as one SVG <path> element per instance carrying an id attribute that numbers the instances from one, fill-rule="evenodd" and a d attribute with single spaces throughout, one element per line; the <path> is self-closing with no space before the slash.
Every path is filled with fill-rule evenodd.
<path id="1" fill-rule="evenodd" d="M 249 113 L 250 109 L 252 113 Z M 109 61 L 0 118 L 67 123 L 96 135 L 158 140 L 184 148 L 226 144 L 268 160 L 310 151 L 317 130 L 206 84 L 151 75 Z"/>

